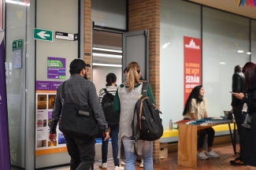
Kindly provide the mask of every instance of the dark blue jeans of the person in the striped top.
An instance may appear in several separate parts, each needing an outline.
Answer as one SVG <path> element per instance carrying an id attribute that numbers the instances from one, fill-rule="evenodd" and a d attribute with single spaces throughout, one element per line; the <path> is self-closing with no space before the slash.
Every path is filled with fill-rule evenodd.
<path id="1" fill-rule="evenodd" d="M 109 127 L 110 127 L 110 137 L 112 141 L 113 162 L 115 166 L 119 166 L 119 159 L 117 159 L 119 125 L 109 126 Z M 104 141 L 104 138 L 102 138 L 102 163 L 106 163 L 107 161 L 108 146 L 109 146 L 109 139 Z"/>

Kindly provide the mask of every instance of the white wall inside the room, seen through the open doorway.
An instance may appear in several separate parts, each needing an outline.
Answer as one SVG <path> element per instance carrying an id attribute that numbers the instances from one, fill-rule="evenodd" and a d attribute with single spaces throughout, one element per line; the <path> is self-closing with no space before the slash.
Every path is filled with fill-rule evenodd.
<path id="1" fill-rule="evenodd" d="M 105 66 L 93 66 L 93 79 L 92 82 L 95 83 L 97 94 L 102 88 L 106 87 L 106 76 L 113 72 L 117 76 L 117 86 L 122 82 L 122 68 L 117 67 L 105 67 Z"/>

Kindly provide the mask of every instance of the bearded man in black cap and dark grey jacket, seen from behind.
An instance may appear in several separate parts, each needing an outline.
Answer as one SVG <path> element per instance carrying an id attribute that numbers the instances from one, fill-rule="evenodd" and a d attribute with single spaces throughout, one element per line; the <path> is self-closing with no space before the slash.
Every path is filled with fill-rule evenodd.
<path id="1" fill-rule="evenodd" d="M 70 78 L 65 81 L 65 103 L 89 106 L 92 109 L 98 127 L 105 136 L 109 138 L 109 128 L 100 105 L 95 84 L 85 79 L 87 75 L 87 65 L 83 60 L 75 59 L 69 65 Z M 56 140 L 56 127 L 62 112 L 62 88 L 63 83 L 58 86 L 55 98 L 52 121 L 49 124 L 51 142 Z M 90 113 L 91 114 L 91 113 Z M 63 118 L 64 119 L 64 118 Z M 70 120 L 71 121 L 71 120 Z M 76 124 L 76 122 L 72 122 Z M 80 127 L 84 131 L 91 131 L 87 124 Z M 95 135 L 82 135 L 76 131 L 69 131 L 61 128 L 65 137 L 67 149 L 71 157 L 71 170 L 91 170 L 95 163 Z M 93 130 L 92 130 L 93 131 Z"/>

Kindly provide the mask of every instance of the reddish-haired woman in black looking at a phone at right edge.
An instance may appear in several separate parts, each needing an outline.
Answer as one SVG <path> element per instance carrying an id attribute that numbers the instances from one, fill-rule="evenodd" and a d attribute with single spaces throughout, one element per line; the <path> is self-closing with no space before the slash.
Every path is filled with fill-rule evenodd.
<path id="1" fill-rule="evenodd" d="M 235 165 L 250 165 L 256 167 L 256 65 L 253 62 L 247 62 L 243 66 L 245 83 L 247 84 L 247 96 L 243 93 L 232 93 L 247 104 L 247 118 L 242 124 L 246 127 L 244 134 L 243 160 L 230 161 Z"/>

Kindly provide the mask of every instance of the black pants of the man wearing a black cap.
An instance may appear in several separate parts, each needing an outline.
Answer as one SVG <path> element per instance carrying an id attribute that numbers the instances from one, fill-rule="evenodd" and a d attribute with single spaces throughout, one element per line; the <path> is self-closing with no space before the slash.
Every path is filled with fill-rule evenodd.
<path id="1" fill-rule="evenodd" d="M 63 133 L 70 161 L 70 170 L 92 170 L 95 164 L 95 138 Z"/>

